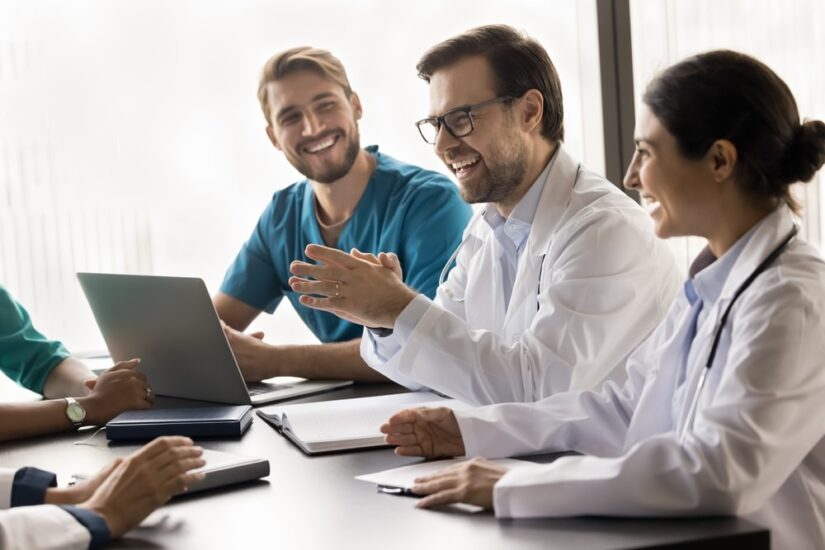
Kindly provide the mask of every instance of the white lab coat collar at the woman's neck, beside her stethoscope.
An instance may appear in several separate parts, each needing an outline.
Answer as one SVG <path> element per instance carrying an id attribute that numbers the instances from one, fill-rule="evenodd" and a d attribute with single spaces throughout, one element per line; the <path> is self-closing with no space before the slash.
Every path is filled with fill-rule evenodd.
<path id="1" fill-rule="evenodd" d="M 742 249 L 739 258 L 725 281 L 720 299 L 730 299 L 739 286 L 791 232 L 793 214 L 786 205 L 765 216 L 753 230 L 753 235 Z"/>

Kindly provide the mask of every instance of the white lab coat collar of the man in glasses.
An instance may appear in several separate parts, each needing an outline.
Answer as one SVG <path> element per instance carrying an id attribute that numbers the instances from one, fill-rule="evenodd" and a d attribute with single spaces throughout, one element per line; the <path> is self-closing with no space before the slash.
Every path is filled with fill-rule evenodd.
<path id="1" fill-rule="evenodd" d="M 527 253 L 543 256 L 550 248 L 553 234 L 570 204 L 579 162 L 570 156 L 562 143 L 558 145 L 556 158 L 552 161 L 550 174 L 544 182 L 538 208 L 533 217 L 533 227 L 527 239 Z"/>

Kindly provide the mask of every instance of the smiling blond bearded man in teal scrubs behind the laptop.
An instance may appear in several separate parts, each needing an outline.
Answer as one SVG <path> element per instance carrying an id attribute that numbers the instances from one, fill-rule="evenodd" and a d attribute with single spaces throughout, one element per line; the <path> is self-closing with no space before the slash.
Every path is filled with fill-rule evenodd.
<path id="1" fill-rule="evenodd" d="M 230 266 L 215 308 L 244 378 L 272 376 L 383 380 L 359 354 L 363 328 L 300 304 L 289 265 L 308 244 L 394 253 L 404 281 L 432 297 L 461 240 L 470 208 L 446 176 L 362 148 L 362 108 L 341 62 L 294 48 L 264 66 L 258 88 L 266 133 L 306 179 L 274 194 Z M 343 290 L 343 289 L 342 289 Z M 240 331 L 287 297 L 322 342 L 270 345 Z"/>

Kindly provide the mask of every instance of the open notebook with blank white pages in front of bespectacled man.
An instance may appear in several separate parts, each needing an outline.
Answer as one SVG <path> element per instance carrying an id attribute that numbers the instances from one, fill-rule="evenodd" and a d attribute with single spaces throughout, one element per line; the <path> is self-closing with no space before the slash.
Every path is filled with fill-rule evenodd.
<path id="1" fill-rule="evenodd" d="M 381 424 L 410 407 L 464 409 L 468 405 L 430 392 L 411 392 L 280 405 L 257 412 L 302 451 L 317 454 L 386 446 Z"/>

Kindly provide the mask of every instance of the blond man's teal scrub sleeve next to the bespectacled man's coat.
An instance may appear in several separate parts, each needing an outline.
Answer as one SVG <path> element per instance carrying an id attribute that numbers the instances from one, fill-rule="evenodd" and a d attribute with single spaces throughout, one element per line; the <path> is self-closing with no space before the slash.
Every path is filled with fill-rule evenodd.
<path id="1" fill-rule="evenodd" d="M 406 212 L 400 255 L 404 282 L 432 299 L 441 270 L 461 242 L 472 209 L 454 184 L 425 183 L 412 194 Z"/>

